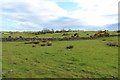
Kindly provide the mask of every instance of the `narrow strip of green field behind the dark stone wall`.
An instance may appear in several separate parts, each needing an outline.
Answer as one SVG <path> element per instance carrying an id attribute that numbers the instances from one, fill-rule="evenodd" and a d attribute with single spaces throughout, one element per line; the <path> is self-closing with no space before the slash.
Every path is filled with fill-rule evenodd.
<path id="1" fill-rule="evenodd" d="M 8 36 L 11 36 L 11 37 L 19 37 L 19 36 L 22 36 L 24 38 L 33 38 L 33 37 L 40 37 L 40 38 L 51 38 L 51 37 L 55 37 L 55 38 L 63 38 L 63 37 L 71 37 L 73 36 L 75 33 L 78 33 L 80 37 L 90 37 L 90 36 L 93 36 L 95 33 L 97 33 L 98 31 L 77 31 L 77 32 L 67 32 L 69 35 L 67 36 L 62 36 L 63 33 L 47 33 L 47 34 L 40 34 L 40 35 L 34 35 L 34 34 L 31 34 L 32 32 L 29 32 L 29 33 L 23 33 L 23 32 L 19 32 L 19 33 L 13 33 L 13 34 L 10 34 L 10 33 L 7 33 L 7 32 L 3 32 L 5 34 L 2 35 L 2 37 L 8 37 Z M 65 32 L 66 33 L 66 32 Z M 108 31 L 109 34 L 118 34 L 117 32 L 115 31 Z M 89 34 L 89 35 L 86 35 L 86 34 Z"/>

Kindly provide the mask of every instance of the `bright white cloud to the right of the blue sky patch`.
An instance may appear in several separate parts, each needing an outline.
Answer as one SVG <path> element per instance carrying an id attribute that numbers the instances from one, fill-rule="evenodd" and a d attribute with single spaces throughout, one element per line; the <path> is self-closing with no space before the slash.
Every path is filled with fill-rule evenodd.
<path id="1" fill-rule="evenodd" d="M 74 0 L 73 2 L 79 3 L 80 9 L 69 13 L 71 18 L 80 19 L 85 24 L 93 26 L 117 23 L 118 0 Z"/>

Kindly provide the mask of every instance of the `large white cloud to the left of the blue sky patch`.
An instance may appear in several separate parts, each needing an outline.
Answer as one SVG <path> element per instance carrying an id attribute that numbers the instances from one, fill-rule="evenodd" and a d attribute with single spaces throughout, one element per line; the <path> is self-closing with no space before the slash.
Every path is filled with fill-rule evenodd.
<path id="1" fill-rule="evenodd" d="M 13 12 L 2 11 L 2 16 L 24 24 L 46 23 L 65 16 L 67 12 L 55 2 L 47 0 L 0 0 L 0 9 L 10 9 Z"/>

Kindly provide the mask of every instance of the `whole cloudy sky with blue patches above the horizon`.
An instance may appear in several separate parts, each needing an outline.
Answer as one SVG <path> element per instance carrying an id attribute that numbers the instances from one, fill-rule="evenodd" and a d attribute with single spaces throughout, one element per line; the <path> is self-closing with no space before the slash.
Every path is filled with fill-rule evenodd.
<path id="1" fill-rule="evenodd" d="M 119 0 L 0 0 L 0 30 L 117 30 Z"/>

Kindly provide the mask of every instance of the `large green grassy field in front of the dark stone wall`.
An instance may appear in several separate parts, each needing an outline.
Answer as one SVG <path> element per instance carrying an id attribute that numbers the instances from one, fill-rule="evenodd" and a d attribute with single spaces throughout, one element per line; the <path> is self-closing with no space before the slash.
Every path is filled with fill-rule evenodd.
<path id="1" fill-rule="evenodd" d="M 118 47 L 106 45 L 111 41 L 118 42 L 118 37 L 53 41 L 52 46 L 37 44 L 36 47 L 24 42 L 3 42 L 3 72 L 6 72 L 3 77 L 118 77 Z M 73 45 L 74 48 L 66 49 L 68 45 Z M 8 72 L 9 70 L 12 71 Z"/>

